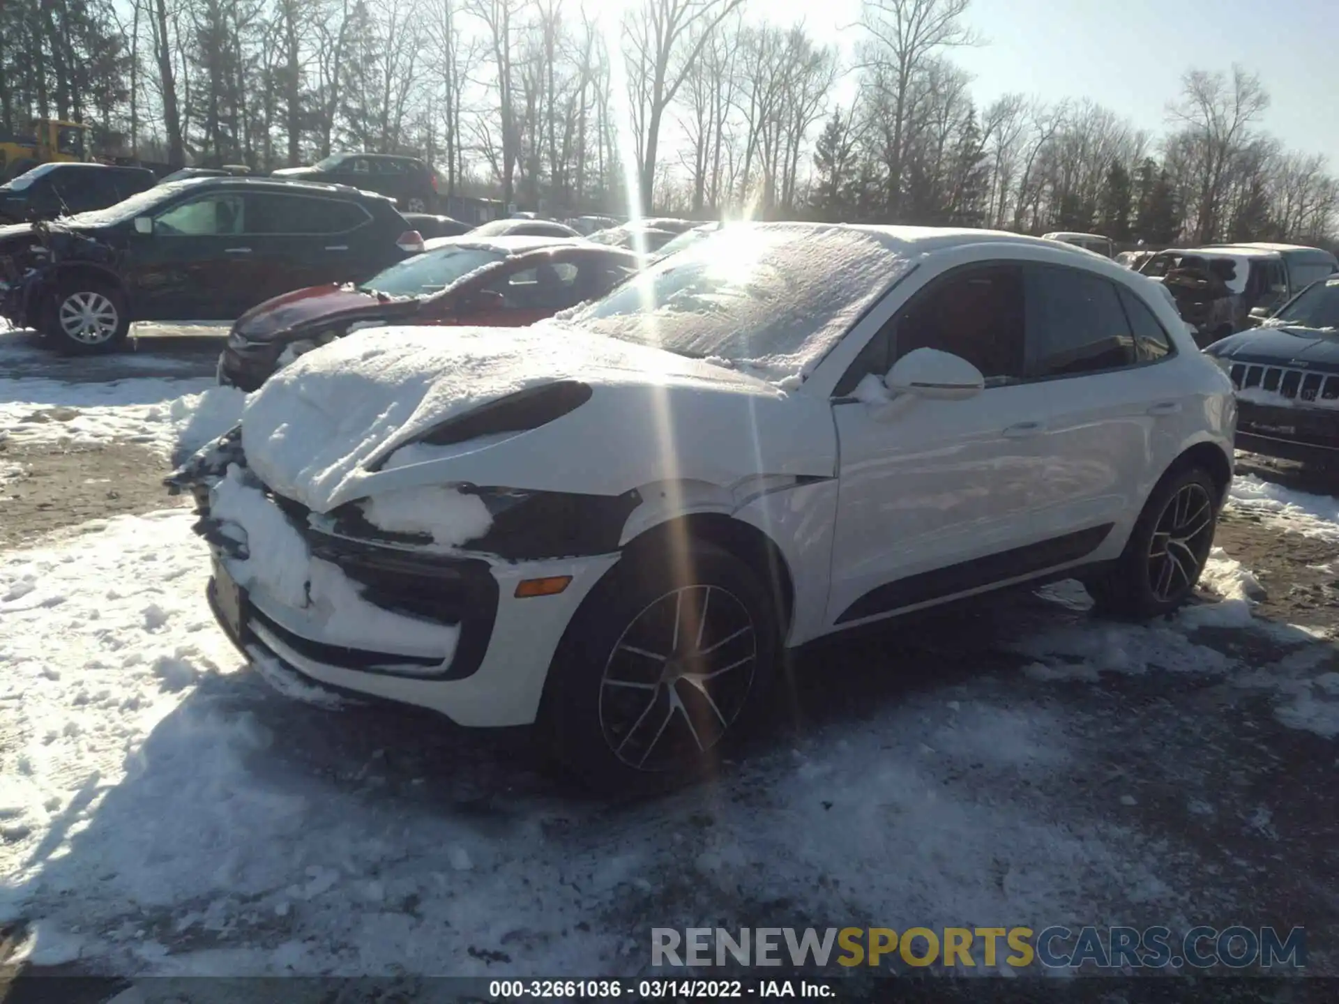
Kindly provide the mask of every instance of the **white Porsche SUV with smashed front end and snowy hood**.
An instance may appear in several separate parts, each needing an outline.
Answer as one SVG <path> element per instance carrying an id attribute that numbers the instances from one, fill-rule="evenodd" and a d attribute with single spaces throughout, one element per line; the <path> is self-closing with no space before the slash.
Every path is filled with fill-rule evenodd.
<path id="1" fill-rule="evenodd" d="M 1176 609 L 1227 375 L 1150 280 L 981 230 L 723 229 L 516 331 L 304 355 L 170 481 L 266 672 L 687 776 L 783 649 L 1012 585 Z M 291 676 L 289 676 L 291 679 Z"/>

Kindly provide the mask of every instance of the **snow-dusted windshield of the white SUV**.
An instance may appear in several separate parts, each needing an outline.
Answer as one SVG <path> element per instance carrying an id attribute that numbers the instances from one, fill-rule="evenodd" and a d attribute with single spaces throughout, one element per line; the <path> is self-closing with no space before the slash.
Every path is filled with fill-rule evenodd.
<path id="1" fill-rule="evenodd" d="M 803 224 L 730 228 L 576 312 L 588 331 L 770 379 L 809 372 L 911 268 L 877 230 Z"/>

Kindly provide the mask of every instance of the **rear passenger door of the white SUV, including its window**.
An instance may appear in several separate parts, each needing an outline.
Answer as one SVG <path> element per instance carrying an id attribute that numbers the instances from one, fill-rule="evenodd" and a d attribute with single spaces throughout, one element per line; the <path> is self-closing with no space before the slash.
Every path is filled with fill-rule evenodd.
<path id="1" fill-rule="evenodd" d="M 1149 365 L 1172 343 L 1148 305 L 1114 280 L 1066 265 L 1023 268 L 1026 372 L 1047 408 L 1047 461 L 1031 505 L 1054 537 L 1101 542 L 1138 511 L 1150 458 L 1165 452 L 1154 435 L 1181 412 L 1170 369 Z"/>

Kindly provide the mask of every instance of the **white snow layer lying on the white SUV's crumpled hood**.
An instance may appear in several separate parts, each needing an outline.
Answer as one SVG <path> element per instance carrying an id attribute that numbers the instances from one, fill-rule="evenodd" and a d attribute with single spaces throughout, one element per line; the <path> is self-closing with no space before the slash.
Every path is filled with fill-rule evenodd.
<path id="1" fill-rule="evenodd" d="M 553 324 L 529 328 L 374 328 L 308 352 L 253 394 L 242 412 L 248 465 L 270 489 L 327 511 L 363 465 L 507 394 L 574 379 L 719 382 L 716 367 Z M 773 391 L 774 392 L 774 391 Z"/>

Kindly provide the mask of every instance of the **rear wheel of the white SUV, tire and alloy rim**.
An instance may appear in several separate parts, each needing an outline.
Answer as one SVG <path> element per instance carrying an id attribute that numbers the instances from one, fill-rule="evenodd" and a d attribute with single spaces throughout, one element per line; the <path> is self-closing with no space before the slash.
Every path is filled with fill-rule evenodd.
<path id="1" fill-rule="evenodd" d="M 1181 606 L 1213 548 L 1218 497 L 1202 467 L 1185 467 L 1158 482 L 1115 568 L 1087 585 L 1098 612 L 1148 620 Z"/>

